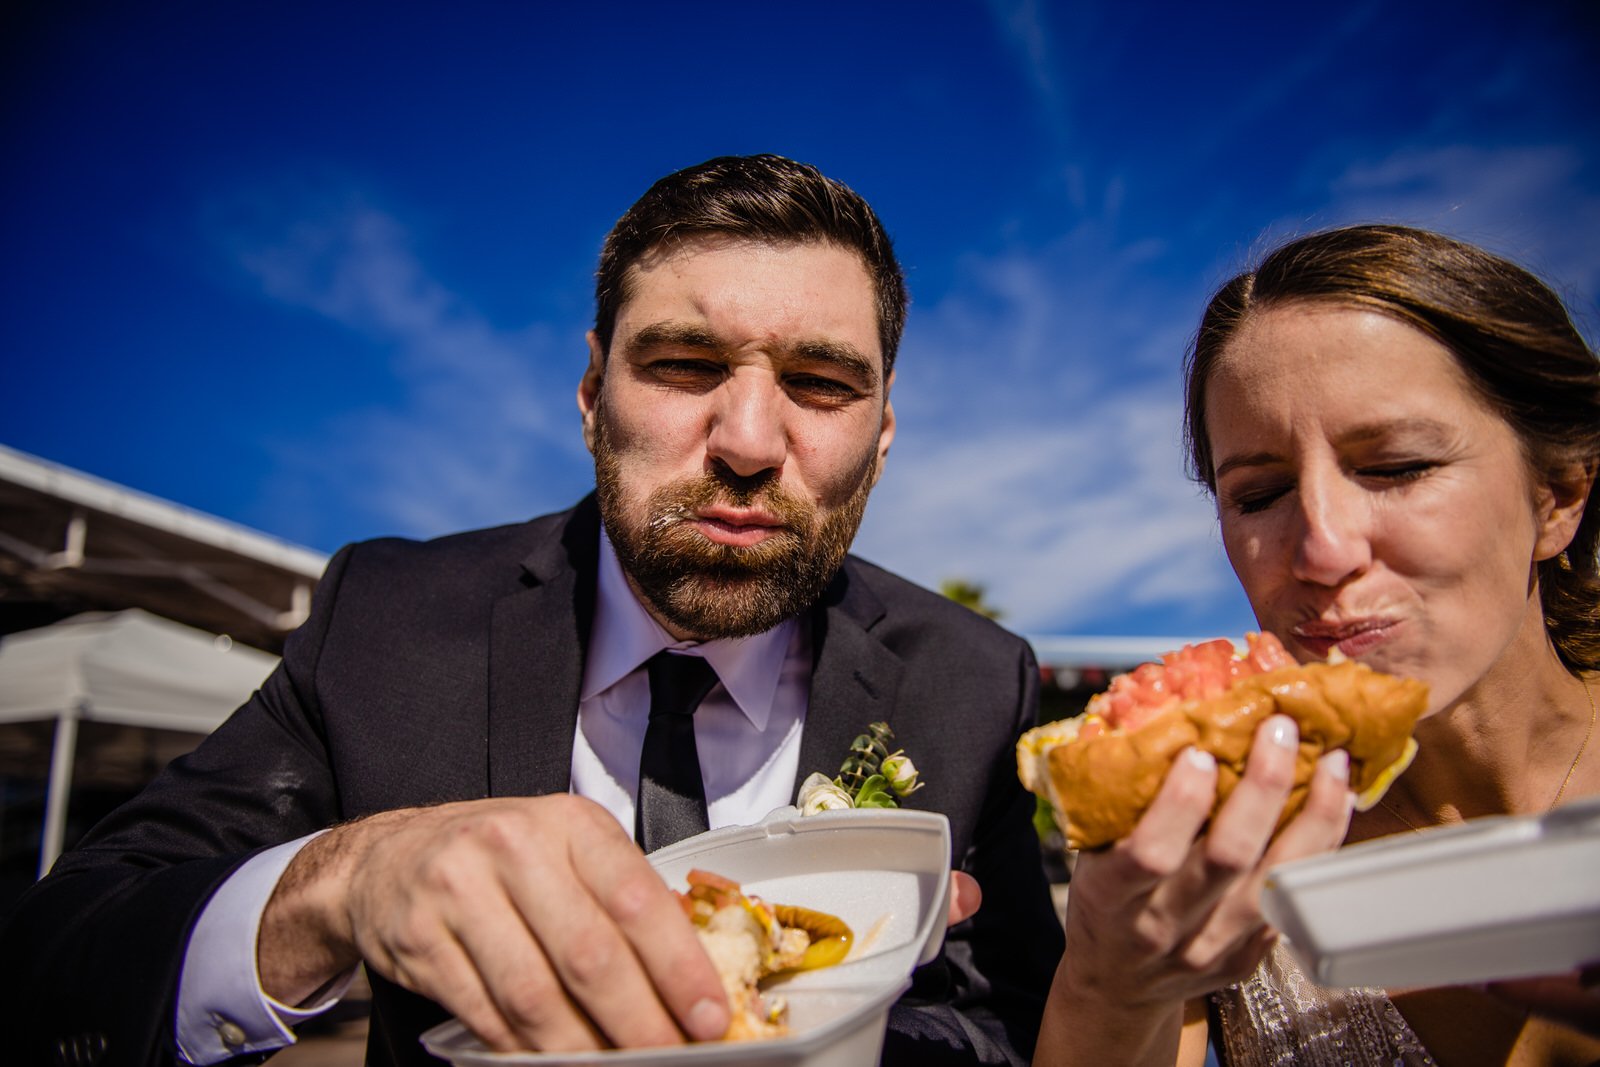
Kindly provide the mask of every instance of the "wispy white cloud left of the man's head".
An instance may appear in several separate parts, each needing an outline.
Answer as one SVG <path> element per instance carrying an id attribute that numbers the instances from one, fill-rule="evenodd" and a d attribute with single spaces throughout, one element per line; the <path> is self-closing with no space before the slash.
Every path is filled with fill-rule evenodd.
<path id="1" fill-rule="evenodd" d="M 389 374 L 307 437 L 278 442 L 275 491 L 296 483 L 304 499 L 312 483 L 373 533 L 414 536 L 523 518 L 582 491 L 579 323 L 557 336 L 486 322 L 430 277 L 398 219 L 360 197 L 278 203 L 262 219 L 267 203 L 253 205 L 253 226 L 218 234 L 235 264 L 266 298 L 366 338 Z"/>

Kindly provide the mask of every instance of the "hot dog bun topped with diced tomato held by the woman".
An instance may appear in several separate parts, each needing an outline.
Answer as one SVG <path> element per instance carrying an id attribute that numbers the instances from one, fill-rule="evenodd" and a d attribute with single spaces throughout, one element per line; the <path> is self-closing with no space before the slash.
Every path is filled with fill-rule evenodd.
<path id="1" fill-rule="evenodd" d="M 1067 848 L 1099 848 L 1133 830 L 1189 745 L 1216 757 L 1216 814 L 1245 773 L 1256 726 L 1282 712 L 1299 723 L 1286 822 L 1306 803 L 1317 760 L 1334 749 L 1350 753 L 1357 808 L 1378 803 L 1411 763 L 1426 707 L 1427 686 L 1414 678 L 1338 654 L 1296 664 L 1270 633 L 1250 633 L 1243 654 L 1219 638 L 1117 675 L 1082 715 L 1022 734 L 1016 765 L 1022 785 L 1054 808 Z"/>

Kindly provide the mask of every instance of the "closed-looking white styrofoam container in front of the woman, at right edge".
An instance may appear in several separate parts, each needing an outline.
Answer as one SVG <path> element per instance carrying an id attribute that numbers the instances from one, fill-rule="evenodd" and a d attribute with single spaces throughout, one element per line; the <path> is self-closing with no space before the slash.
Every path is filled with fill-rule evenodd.
<path id="1" fill-rule="evenodd" d="M 1443 985 L 1600 961 L 1600 797 L 1274 867 L 1267 920 L 1323 985 Z"/>

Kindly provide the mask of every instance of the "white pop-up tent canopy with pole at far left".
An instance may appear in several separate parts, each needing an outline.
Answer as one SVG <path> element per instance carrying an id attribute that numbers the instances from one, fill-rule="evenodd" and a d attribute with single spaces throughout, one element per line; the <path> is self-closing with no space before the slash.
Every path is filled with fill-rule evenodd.
<path id="1" fill-rule="evenodd" d="M 40 873 L 61 853 L 80 720 L 210 733 L 277 656 L 138 608 L 0 638 L 0 723 L 54 720 Z"/>

